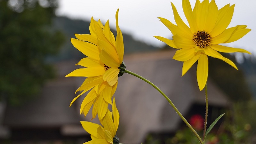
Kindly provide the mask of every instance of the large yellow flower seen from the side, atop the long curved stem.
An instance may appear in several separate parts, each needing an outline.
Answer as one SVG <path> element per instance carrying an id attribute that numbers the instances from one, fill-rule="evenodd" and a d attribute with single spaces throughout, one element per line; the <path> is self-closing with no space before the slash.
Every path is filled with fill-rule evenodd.
<path id="1" fill-rule="evenodd" d="M 124 73 L 124 43 L 122 32 L 118 26 L 118 11 L 116 11 L 116 40 L 110 31 L 109 23 L 105 26 L 100 20 L 93 18 L 90 23 L 91 34 L 75 34 L 76 38 L 71 38 L 71 43 L 87 57 L 80 60 L 76 65 L 86 68 L 76 69 L 67 76 L 87 77 L 84 83 L 76 90 L 81 92 L 72 103 L 82 94 L 92 89 L 84 98 L 80 114 L 87 115 L 93 105 L 92 117 L 98 113 L 101 120 L 107 113 L 108 104 L 112 103 L 111 97 L 116 91 L 118 76 Z"/>

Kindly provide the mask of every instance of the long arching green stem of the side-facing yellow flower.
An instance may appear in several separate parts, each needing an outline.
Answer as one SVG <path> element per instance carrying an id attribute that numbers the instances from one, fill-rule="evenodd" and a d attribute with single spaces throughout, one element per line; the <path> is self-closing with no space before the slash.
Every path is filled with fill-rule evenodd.
<path id="1" fill-rule="evenodd" d="M 201 140 L 200 136 L 197 134 L 197 132 L 193 129 L 193 127 L 188 123 L 188 121 L 181 115 L 181 113 L 179 112 L 179 110 L 174 106 L 174 104 L 172 103 L 172 101 L 164 94 L 164 92 L 162 92 L 155 84 L 151 83 L 149 80 L 147 80 L 146 78 L 135 74 L 129 70 L 124 71 L 125 73 L 131 74 L 133 76 L 136 76 L 138 78 L 140 78 L 141 80 L 147 82 L 148 84 L 152 85 L 158 92 L 160 92 L 164 98 L 171 104 L 172 108 L 177 112 L 177 114 L 180 116 L 180 118 L 188 125 L 188 127 L 190 128 L 190 130 L 196 135 L 197 139 L 200 141 L 201 144 L 203 144 L 203 141 Z"/>

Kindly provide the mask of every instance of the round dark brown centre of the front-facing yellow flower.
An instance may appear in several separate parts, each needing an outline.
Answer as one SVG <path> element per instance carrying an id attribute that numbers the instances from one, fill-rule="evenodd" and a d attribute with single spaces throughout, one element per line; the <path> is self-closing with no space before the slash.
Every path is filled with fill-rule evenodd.
<path id="1" fill-rule="evenodd" d="M 200 46 L 202 48 L 210 45 L 212 37 L 205 31 L 197 31 L 194 33 L 192 40 L 196 44 L 196 46 Z"/>

